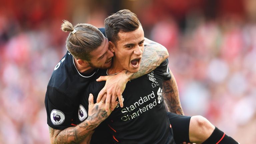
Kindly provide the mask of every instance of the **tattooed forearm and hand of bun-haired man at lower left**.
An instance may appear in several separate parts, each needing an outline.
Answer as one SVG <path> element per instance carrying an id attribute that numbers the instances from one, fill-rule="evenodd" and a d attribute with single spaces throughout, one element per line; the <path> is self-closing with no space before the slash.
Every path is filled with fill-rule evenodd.
<path id="1" fill-rule="evenodd" d="M 117 102 L 115 103 L 115 106 Z M 105 103 L 93 103 L 93 95 L 89 96 L 88 118 L 75 127 L 69 127 L 64 130 L 57 130 L 49 127 L 51 144 L 89 144 L 94 129 L 109 115 L 105 111 Z"/>

